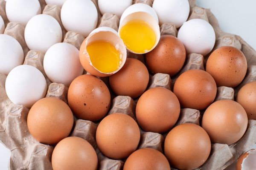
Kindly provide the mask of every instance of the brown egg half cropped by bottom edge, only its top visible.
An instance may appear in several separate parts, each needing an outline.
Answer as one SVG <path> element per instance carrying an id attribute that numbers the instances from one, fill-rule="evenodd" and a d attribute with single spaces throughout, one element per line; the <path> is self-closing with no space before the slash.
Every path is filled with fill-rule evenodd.
<path id="1" fill-rule="evenodd" d="M 171 170 L 163 153 L 151 148 L 136 150 L 125 161 L 123 170 Z"/>

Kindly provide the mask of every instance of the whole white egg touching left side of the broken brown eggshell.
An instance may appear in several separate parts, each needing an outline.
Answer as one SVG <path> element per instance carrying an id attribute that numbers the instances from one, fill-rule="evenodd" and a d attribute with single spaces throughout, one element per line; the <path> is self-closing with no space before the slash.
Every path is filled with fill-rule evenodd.
<path id="1" fill-rule="evenodd" d="M 65 42 L 52 45 L 44 56 L 44 71 L 52 82 L 69 86 L 84 71 L 79 50 Z"/>

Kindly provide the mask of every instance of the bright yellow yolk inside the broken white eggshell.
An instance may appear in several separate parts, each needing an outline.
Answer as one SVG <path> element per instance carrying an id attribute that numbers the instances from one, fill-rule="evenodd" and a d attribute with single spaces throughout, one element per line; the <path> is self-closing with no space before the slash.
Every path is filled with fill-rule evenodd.
<path id="1" fill-rule="evenodd" d="M 120 37 L 126 47 L 136 53 L 150 51 L 156 42 L 154 29 L 143 20 L 132 20 L 120 30 Z"/>

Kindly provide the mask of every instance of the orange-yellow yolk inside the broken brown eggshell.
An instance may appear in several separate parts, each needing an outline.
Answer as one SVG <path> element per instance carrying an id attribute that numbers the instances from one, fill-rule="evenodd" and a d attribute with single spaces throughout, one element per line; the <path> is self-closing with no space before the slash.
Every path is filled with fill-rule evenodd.
<path id="1" fill-rule="evenodd" d="M 116 71 L 120 66 L 121 53 L 107 41 L 96 41 L 87 46 L 93 66 L 103 73 Z"/>

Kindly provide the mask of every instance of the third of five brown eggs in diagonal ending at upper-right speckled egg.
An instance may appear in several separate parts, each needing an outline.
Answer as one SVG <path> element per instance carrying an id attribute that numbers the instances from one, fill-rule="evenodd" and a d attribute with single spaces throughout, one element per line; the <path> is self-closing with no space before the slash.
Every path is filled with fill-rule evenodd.
<path id="1" fill-rule="evenodd" d="M 151 88 L 137 102 L 137 121 L 146 131 L 166 132 L 175 125 L 179 116 L 179 100 L 166 88 Z"/>

